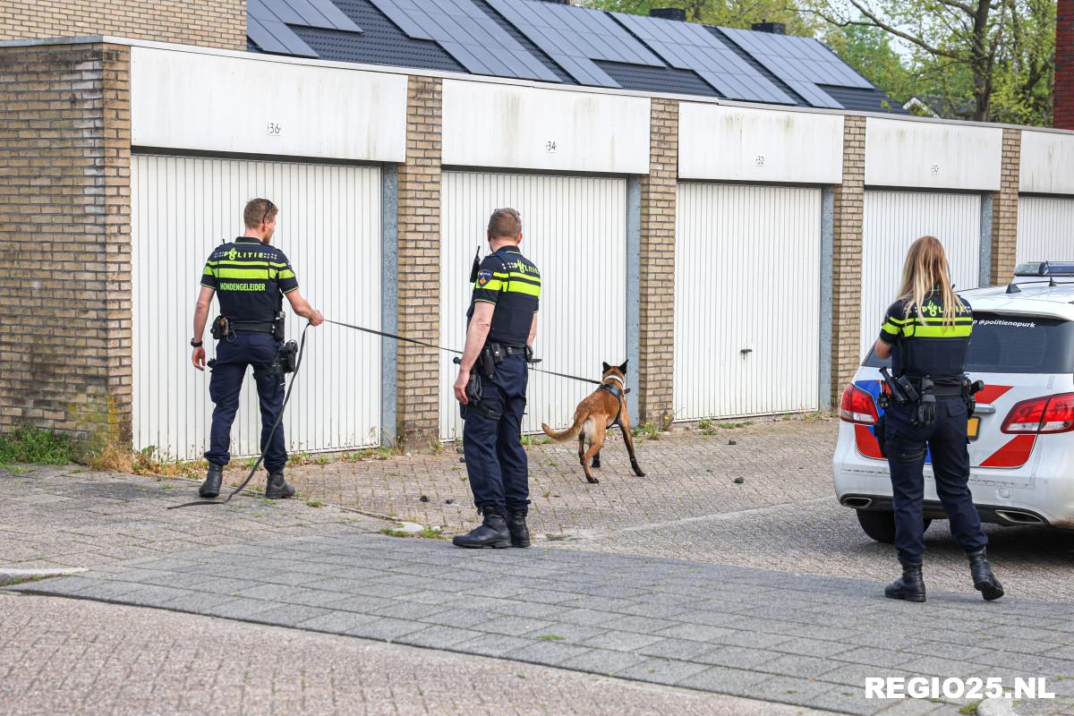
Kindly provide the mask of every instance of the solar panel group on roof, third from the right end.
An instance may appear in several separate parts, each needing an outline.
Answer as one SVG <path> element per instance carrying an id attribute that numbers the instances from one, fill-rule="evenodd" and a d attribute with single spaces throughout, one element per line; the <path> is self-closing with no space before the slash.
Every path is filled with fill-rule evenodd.
<path id="1" fill-rule="evenodd" d="M 531 0 L 489 0 L 489 4 L 581 85 L 620 86 L 594 60 L 664 67 L 599 10 Z"/>

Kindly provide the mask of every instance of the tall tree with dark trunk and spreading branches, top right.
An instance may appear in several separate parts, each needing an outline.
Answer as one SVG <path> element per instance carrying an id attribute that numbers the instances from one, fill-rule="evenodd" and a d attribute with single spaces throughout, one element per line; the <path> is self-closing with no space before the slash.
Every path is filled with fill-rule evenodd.
<path id="1" fill-rule="evenodd" d="M 802 0 L 839 28 L 876 28 L 911 49 L 921 88 L 969 119 L 1047 123 L 1055 0 Z"/>

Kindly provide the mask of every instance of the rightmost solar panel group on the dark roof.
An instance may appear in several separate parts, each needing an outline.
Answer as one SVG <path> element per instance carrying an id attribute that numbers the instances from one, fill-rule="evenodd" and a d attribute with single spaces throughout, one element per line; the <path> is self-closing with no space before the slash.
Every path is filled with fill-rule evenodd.
<path id="1" fill-rule="evenodd" d="M 813 106 L 842 108 L 817 85 L 873 89 L 816 40 L 723 27 L 720 31 Z"/>

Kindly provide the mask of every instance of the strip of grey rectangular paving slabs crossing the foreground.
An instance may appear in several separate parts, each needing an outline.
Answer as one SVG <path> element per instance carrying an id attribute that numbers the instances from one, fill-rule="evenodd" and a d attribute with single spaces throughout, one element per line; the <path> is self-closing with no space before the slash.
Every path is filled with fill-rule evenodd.
<path id="1" fill-rule="evenodd" d="M 986 603 L 741 567 L 566 550 L 463 551 L 340 535 L 251 542 L 9 589 L 223 616 L 611 674 L 843 713 L 955 714 L 867 701 L 866 676 L 1045 676 L 1074 711 L 1074 604 Z"/>

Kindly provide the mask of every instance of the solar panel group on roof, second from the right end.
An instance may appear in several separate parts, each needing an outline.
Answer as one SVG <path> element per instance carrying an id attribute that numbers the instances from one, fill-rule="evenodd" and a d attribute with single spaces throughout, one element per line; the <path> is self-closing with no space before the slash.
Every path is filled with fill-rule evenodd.
<path id="1" fill-rule="evenodd" d="M 668 64 L 679 70 L 693 70 L 726 98 L 796 103 L 700 25 L 625 13 L 611 15 Z"/>

